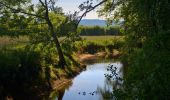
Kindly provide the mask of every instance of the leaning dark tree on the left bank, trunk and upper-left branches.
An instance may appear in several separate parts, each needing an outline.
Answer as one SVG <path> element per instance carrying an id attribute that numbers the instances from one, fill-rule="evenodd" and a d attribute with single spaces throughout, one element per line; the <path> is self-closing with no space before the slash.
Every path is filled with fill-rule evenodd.
<path id="1" fill-rule="evenodd" d="M 51 36 L 53 37 L 53 41 L 56 45 L 56 49 L 58 51 L 59 54 L 59 65 L 61 65 L 62 68 L 64 68 L 64 66 L 66 65 L 66 61 L 60 46 L 60 43 L 58 41 L 57 38 L 57 33 L 54 30 L 54 25 L 51 22 L 51 19 L 49 18 L 49 13 L 50 10 L 56 10 L 54 5 L 55 5 L 55 1 L 54 0 L 45 0 L 44 2 L 42 0 L 39 0 L 39 3 L 41 5 L 39 5 L 39 10 L 36 12 L 34 9 L 34 4 L 28 5 L 27 8 L 23 9 L 20 3 L 21 1 L 16 1 L 16 5 L 13 5 L 11 2 L 8 1 L 0 1 L 1 3 L 1 8 L 4 9 L 9 9 L 9 11 L 11 11 L 12 13 L 21 13 L 27 16 L 34 16 L 38 19 L 43 19 L 46 21 L 47 25 L 48 25 L 48 29 L 49 32 L 51 34 Z M 25 4 L 26 1 L 22 1 L 24 2 L 23 4 Z M 28 2 L 27 2 L 28 3 Z M 30 9 L 28 9 L 30 8 Z"/>

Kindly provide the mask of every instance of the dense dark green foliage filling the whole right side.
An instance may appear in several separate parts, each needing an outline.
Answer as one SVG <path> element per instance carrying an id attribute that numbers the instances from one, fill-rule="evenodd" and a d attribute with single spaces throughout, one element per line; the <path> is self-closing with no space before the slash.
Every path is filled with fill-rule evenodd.
<path id="1" fill-rule="evenodd" d="M 123 94 L 121 98 L 170 98 L 169 10 L 168 0 L 109 1 L 102 10 L 114 13 L 112 18 L 124 20 L 123 62 L 127 64 L 124 90 L 119 92 Z"/>

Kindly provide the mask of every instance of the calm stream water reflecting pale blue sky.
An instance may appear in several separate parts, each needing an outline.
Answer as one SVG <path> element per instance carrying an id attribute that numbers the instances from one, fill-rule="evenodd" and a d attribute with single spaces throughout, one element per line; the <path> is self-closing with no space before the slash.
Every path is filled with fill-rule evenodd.
<path id="1" fill-rule="evenodd" d="M 122 77 L 122 64 L 96 63 L 87 65 L 85 71 L 77 75 L 70 86 L 58 93 L 55 100 L 104 100 L 106 95 L 113 90 L 113 82 L 109 81 L 105 74 L 109 74 L 107 66 L 111 64 L 117 67 L 117 73 Z M 107 98 L 107 97 L 106 97 Z M 108 99 L 107 99 L 108 100 Z"/>

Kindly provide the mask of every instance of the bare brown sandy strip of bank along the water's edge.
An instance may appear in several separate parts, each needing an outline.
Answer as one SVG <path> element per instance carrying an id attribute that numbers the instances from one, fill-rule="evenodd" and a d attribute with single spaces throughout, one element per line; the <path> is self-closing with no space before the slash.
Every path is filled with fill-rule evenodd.
<path id="1" fill-rule="evenodd" d="M 60 74 L 61 79 L 57 79 L 53 82 L 53 89 L 60 90 L 62 87 L 66 87 L 68 84 L 71 84 L 72 79 L 82 72 L 86 68 L 86 64 L 95 63 L 98 60 L 109 58 L 109 59 L 118 59 L 121 56 L 121 53 L 117 50 L 114 50 L 112 53 L 107 52 L 97 52 L 95 54 L 82 53 L 75 54 L 75 59 L 80 62 L 79 67 L 75 67 L 72 69 L 74 75 L 68 76 L 67 73 L 63 72 L 63 75 Z"/>

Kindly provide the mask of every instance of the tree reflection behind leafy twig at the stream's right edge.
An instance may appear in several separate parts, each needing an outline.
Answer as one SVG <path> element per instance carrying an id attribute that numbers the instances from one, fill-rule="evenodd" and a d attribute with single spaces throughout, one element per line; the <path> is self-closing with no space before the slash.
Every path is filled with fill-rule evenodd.
<path id="1" fill-rule="evenodd" d="M 104 100 L 114 100 L 114 93 L 122 89 L 123 84 L 123 70 L 122 67 L 117 68 L 114 65 L 108 65 L 107 71 L 109 73 L 105 74 L 105 84 L 104 88 L 98 87 L 97 91 L 101 94 Z"/>

